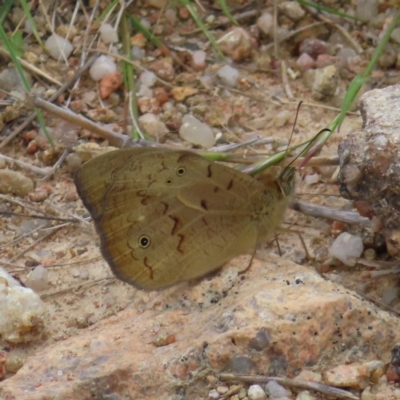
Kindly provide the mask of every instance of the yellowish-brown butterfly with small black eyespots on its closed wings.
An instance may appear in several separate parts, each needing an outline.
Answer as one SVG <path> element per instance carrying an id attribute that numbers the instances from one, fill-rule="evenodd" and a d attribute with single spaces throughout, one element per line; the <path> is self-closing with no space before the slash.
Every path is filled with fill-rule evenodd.
<path id="1" fill-rule="evenodd" d="M 287 207 L 267 184 L 188 151 L 116 150 L 78 172 L 113 273 L 153 290 L 203 276 L 272 237 Z"/>

